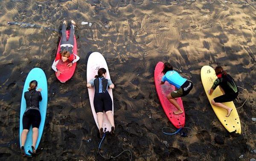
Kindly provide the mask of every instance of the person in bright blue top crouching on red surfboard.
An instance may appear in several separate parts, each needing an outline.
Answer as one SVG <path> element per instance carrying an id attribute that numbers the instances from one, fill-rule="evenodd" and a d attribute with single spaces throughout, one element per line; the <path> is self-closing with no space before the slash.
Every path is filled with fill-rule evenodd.
<path id="1" fill-rule="evenodd" d="M 177 103 L 175 98 L 183 97 L 189 94 L 193 88 L 193 83 L 191 80 L 181 77 L 179 73 L 174 71 L 170 63 L 164 63 L 162 73 L 164 75 L 160 84 L 162 85 L 165 83 L 165 81 L 167 81 L 176 87 L 175 91 L 166 96 L 166 98 L 178 109 L 177 111 L 173 112 L 173 114 L 182 114 L 183 110 L 180 108 L 180 105 Z"/>

